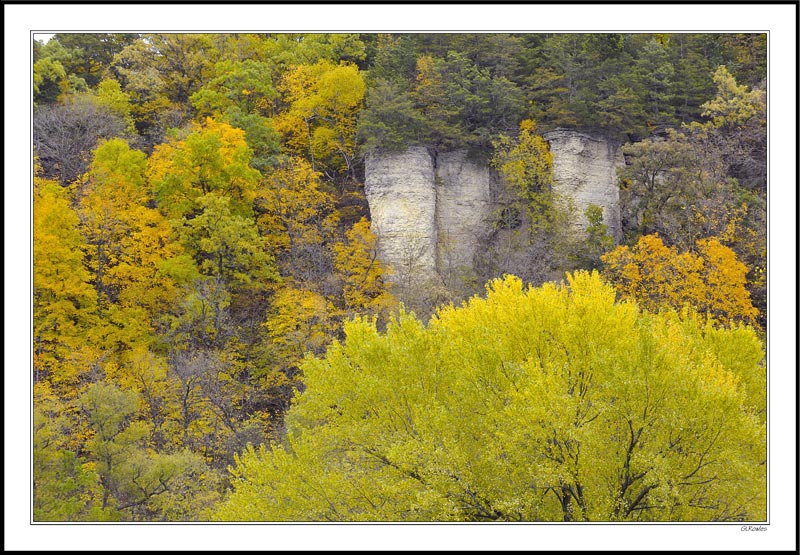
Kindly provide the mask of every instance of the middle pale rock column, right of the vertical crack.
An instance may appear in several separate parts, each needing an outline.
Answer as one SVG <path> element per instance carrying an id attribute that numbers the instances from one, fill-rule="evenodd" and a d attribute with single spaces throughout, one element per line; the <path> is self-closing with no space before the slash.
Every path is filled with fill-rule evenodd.
<path id="1" fill-rule="evenodd" d="M 472 268 L 479 240 L 493 209 L 492 174 L 466 158 L 464 151 L 436 159 L 437 269 Z"/>

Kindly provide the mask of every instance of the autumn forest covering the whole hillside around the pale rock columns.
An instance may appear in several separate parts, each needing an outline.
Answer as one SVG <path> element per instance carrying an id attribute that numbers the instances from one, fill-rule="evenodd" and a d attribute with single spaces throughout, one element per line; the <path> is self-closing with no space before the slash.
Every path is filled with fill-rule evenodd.
<path id="1" fill-rule="evenodd" d="M 32 55 L 35 521 L 765 518 L 765 34 Z M 620 145 L 617 236 L 569 232 L 556 129 Z M 365 195 L 409 147 L 504 187 L 430 287 Z"/>

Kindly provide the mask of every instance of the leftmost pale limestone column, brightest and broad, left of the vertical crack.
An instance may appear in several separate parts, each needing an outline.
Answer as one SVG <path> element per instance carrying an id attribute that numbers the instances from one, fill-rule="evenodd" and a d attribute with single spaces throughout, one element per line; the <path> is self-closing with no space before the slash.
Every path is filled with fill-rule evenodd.
<path id="1" fill-rule="evenodd" d="M 364 192 L 381 259 L 396 276 L 434 278 L 436 190 L 427 149 L 369 156 Z"/>

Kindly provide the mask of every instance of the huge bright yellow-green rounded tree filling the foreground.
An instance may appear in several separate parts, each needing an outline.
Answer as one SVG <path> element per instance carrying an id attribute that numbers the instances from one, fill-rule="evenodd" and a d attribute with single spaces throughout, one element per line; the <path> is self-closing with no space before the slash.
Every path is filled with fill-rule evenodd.
<path id="1" fill-rule="evenodd" d="M 350 322 L 217 518 L 765 518 L 761 342 L 614 299 L 596 273 L 507 277 L 427 327 Z"/>

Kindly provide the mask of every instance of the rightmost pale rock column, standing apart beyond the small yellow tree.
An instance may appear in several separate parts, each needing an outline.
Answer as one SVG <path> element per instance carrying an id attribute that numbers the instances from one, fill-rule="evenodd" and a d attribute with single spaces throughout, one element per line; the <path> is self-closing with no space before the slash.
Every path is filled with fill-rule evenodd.
<path id="1" fill-rule="evenodd" d="M 619 240 L 622 229 L 616 170 L 625 164 L 619 145 L 564 129 L 542 136 L 550 143 L 553 154 L 555 190 L 574 202 L 575 226 L 586 229 L 584 212 L 590 204 L 596 204 L 603 209 L 603 222 L 609 234 Z"/>

